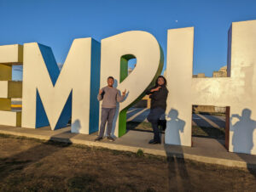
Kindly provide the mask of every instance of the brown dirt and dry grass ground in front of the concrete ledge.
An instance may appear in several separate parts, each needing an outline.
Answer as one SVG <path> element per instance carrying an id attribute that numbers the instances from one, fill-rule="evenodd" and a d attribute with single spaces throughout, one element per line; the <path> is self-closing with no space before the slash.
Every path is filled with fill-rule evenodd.
<path id="1" fill-rule="evenodd" d="M 0 135 L 0 191 L 255 191 L 256 170 Z"/>

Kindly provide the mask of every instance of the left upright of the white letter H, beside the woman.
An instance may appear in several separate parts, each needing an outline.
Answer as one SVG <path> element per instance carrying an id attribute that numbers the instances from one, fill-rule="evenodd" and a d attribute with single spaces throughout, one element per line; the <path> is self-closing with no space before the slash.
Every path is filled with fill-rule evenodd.
<path id="1" fill-rule="evenodd" d="M 194 28 L 168 30 L 166 144 L 191 145 Z"/>

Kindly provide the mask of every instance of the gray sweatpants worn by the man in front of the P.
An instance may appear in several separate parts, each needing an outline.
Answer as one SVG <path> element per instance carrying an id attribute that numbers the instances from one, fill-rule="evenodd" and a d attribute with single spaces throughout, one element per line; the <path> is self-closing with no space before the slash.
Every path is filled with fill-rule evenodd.
<path id="1" fill-rule="evenodd" d="M 106 122 L 108 121 L 107 135 L 110 136 L 113 126 L 113 117 L 116 108 L 102 108 L 101 127 L 99 137 L 104 136 Z"/>

